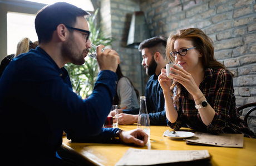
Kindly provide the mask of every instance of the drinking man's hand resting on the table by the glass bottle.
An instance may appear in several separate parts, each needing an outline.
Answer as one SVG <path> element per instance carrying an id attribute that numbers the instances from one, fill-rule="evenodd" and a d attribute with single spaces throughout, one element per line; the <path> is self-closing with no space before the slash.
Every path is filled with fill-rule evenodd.
<path id="1" fill-rule="evenodd" d="M 138 146 L 145 146 L 149 136 L 142 129 L 132 129 L 131 131 L 122 132 L 120 140 L 124 143 L 134 143 Z"/>

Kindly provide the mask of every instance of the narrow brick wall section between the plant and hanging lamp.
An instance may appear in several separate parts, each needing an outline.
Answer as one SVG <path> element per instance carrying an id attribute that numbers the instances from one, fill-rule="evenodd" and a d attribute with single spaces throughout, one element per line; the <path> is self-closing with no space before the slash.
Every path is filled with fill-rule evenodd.
<path id="1" fill-rule="evenodd" d="M 142 69 L 141 54 L 137 49 L 126 48 L 132 13 L 140 11 L 139 1 L 103 0 L 99 6 L 104 31 L 115 38 L 112 49 L 119 53 L 122 73 L 131 79 L 140 95 L 145 95 L 145 82 L 149 77 Z"/>

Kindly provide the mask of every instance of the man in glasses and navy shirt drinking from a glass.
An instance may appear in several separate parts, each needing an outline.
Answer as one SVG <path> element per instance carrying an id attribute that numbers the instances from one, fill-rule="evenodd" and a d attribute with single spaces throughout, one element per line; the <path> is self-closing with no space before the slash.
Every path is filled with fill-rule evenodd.
<path id="1" fill-rule="evenodd" d="M 64 65 L 85 63 L 91 48 L 88 15 L 64 2 L 37 13 L 39 45 L 14 58 L 0 79 L 2 163 L 68 165 L 57 153 L 63 131 L 72 142 L 146 144 L 148 136 L 140 129 L 102 128 L 115 96 L 115 50 L 101 53 L 104 45 L 97 47 L 99 75 L 90 97 L 82 100 L 72 91 Z"/>

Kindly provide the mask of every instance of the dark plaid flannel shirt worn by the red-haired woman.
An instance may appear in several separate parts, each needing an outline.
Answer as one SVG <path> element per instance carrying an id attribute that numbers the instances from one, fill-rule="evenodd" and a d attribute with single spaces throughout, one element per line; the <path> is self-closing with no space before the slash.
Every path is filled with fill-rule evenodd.
<path id="1" fill-rule="evenodd" d="M 188 99 L 188 91 L 183 87 L 179 98 L 178 119 L 175 123 L 168 121 L 168 126 L 179 129 L 186 124 L 202 132 L 243 133 L 245 137 L 255 138 L 255 134 L 245 126 L 235 107 L 233 78 L 228 70 L 206 69 L 205 76 L 199 89 L 203 92 L 210 106 L 215 110 L 215 116 L 210 125 L 206 126 L 201 120 L 195 101 Z M 174 89 L 174 96 L 176 89 Z M 175 108 L 177 108 L 174 105 Z"/>

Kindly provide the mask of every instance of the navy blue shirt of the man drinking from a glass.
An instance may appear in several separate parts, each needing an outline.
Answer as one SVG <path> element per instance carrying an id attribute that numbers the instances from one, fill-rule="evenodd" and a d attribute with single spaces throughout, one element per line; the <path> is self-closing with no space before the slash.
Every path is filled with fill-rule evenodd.
<path id="1" fill-rule="evenodd" d="M 40 47 L 14 58 L 0 78 L 0 142 L 6 151 L 1 157 L 56 165 L 63 131 L 72 141 L 111 142 L 118 129 L 102 125 L 116 82 L 115 72 L 101 71 L 92 95 L 82 100 L 72 91 L 67 70 Z"/>

